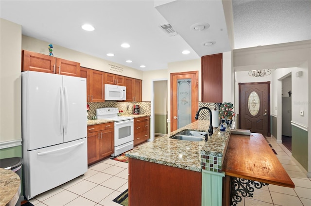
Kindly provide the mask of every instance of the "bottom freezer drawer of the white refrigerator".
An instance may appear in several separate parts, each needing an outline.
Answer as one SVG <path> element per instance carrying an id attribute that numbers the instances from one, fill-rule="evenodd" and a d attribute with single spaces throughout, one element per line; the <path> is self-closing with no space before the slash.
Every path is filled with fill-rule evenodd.
<path id="1" fill-rule="evenodd" d="M 26 151 L 24 195 L 27 199 L 62 185 L 87 171 L 87 139 Z"/>

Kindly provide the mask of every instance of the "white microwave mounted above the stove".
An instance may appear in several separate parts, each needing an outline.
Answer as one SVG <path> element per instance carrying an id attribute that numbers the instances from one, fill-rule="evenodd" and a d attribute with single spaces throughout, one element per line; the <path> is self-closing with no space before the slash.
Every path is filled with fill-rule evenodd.
<path id="1" fill-rule="evenodd" d="M 105 84 L 105 100 L 126 100 L 126 87 Z"/>

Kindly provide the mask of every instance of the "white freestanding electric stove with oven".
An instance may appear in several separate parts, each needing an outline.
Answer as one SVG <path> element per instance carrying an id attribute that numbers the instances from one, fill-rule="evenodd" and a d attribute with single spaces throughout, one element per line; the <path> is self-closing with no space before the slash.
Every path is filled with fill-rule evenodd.
<path id="1" fill-rule="evenodd" d="M 99 108 L 96 110 L 97 119 L 114 120 L 114 144 L 113 157 L 134 148 L 134 118 L 118 116 L 119 109 L 113 107 Z"/>

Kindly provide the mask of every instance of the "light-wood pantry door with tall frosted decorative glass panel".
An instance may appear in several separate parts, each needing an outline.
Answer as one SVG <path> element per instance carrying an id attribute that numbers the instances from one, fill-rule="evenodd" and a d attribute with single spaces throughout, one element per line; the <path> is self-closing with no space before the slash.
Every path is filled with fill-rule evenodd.
<path id="1" fill-rule="evenodd" d="M 171 131 L 195 121 L 198 99 L 198 71 L 171 74 Z"/>

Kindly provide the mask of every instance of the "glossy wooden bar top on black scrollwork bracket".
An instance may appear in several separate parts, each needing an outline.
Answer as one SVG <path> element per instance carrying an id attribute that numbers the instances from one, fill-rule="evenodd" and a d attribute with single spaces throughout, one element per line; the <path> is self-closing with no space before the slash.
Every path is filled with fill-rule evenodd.
<path id="1" fill-rule="evenodd" d="M 294 183 L 262 134 L 231 134 L 223 171 L 225 175 L 294 188 Z"/>

